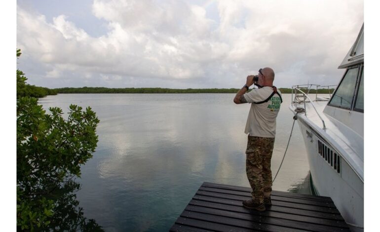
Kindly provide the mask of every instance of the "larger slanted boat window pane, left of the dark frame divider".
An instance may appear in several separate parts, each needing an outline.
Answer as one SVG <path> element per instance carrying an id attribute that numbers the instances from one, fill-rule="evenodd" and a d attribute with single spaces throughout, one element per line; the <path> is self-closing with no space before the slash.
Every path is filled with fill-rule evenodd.
<path id="1" fill-rule="evenodd" d="M 333 97 L 331 98 L 331 105 L 351 108 L 358 73 L 359 67 L 347 70 L 341 84 L 338 86 Z"/>

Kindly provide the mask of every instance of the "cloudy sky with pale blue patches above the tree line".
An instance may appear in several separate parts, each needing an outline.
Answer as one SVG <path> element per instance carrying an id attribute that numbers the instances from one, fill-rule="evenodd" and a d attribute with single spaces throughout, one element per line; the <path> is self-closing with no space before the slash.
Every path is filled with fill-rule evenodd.
<path id="1" fill-rule="evenodd" d="M 58 87 L 337 84 L 363 0 L 17 0 L 17 68 Z"/>

